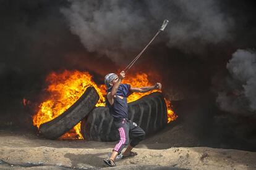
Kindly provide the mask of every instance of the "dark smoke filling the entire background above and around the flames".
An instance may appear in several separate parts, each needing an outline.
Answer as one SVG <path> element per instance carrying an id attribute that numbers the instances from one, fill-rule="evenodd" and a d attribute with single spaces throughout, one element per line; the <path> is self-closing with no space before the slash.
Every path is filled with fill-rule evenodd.
<path id="1" fill-rule="evenodd" d="M 193 101 L 200 109 L 187 119 L 205 145 L 255 150 L 254 1 L 2 0 L 0 14 L 1 124 L 31 126 L 22 100 L 40 101 L 51 71 L 86 70 L 102 84 L 168 19 L 130 71 L 160 80 L 171 100 Z"/>

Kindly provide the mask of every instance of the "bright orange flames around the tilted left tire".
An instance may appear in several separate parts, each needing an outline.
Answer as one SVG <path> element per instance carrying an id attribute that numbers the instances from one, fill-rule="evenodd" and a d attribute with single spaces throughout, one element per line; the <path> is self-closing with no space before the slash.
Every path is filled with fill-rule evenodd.
<path id="1" fill-rule="evenodd" d="M 88 72 L 66 70 L 61 74 L 51 73 L 46 81 L 50 84 L 46 90 L 49 92 L 49 99 L 40 104 L 38 113 L 33 116 L 33 124 L 38 128 L 40 124 L 56 118 L 73 105 L 88 86 L 93 86 L 97 91 L 100 91 Z M 99 95 L 100 100 L 97 105 L 104 101 L 103 95 Z M 80 123 L 74 127 L 73 131 L 75 134 L 72 132 L 64 134 L 61 139 L 67 137 L 83 139 L 82 134 L 80 134 Z"/>

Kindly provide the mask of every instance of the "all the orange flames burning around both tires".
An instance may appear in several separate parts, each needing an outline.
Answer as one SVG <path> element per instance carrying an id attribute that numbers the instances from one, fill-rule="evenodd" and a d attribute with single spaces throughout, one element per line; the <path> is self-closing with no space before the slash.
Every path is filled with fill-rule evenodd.
<path id="1" fill-rule="evenodd" d="M 93 80 L 92 76 L 86 71 L 64 71 L 63 73 L 50 73 L 46 82 L 49 83 L 48 99 L 45 102 L 40 103 L 38 112 L 33 116 L 33 124 L 40 127 L 40 124 L 46 123 L 51 119 L 56 118 L 61 115 L 67 108 L 71 107 L 85 92 L 87 87 L 93 86 L 100 95 L 100 100 L 96 104 L 96 107 L 105 106 L 105 99 L 103 94 L 106 92 L 105 85 L 101 84 L 97 86 Z M 145 73 L 137 73 L 135 76 L 130 76 L 126 78 L 123 83 L 129 83 L 133 87 L 140 86 L 151 86 L 148 81 L 148 76 Z M 155 90 L 151 92 L 156 92 L 160 90 Z M 134 93 L 128 97 L 128 102 L 133 102 L 140 99 L 143 95 L 150 94 L 147 93 Z M 177 118 L 177 115 L 171 110 L 171 102 L 167 99 L 166 106 L 168 107 L 168 123 Z M 77 124 L 73 129 L 60 137 L 60 139 L 83 139 L 82 134 L 80 134 L 80 123 Z"/>

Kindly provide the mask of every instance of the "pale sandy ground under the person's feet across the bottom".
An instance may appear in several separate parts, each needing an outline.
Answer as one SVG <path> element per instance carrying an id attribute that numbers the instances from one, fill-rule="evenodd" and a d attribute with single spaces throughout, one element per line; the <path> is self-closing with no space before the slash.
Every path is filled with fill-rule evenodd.
<path id="1" fill-rule="evenodd" d="M 176 126 L 172 131 L 175 134 L 181 128 Z M 177 147 L 176 140 L 165 139 L 166 132 L 144 140 L 134 149 L 139 155 L 117 160 L 117 167 L 111 169 L 256 169 L 256 152 Z M 187 144 L 197 142 L 184 136 Z M 103 159 L 108 158 L 115 144 L 48 140 L 32 132 L 4 129 L 0 130 L 0 169 L 110 169 Z"/>

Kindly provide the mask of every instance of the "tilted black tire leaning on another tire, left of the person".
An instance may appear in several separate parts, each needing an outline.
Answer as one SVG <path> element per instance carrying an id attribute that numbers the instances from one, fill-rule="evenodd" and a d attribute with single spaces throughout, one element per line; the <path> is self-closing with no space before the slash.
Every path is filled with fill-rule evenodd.
<path id="1" fill-rule="evenodd" d="M 41 124 L 39 131 L 47 139 L 57 139 L 72 129 L 79 121 L 87 116 L 99 100 L 94 87 L 88 87 L 83 95 L 70 108 L 58 117 Z"/>

